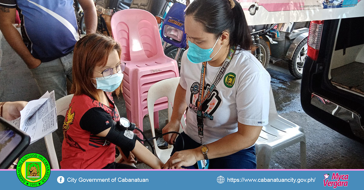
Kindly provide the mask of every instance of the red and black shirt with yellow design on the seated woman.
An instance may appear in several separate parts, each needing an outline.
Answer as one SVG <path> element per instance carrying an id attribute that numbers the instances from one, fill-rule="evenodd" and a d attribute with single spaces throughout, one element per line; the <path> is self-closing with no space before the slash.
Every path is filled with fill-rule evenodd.
<path id="1" fill-rule="evenodd" d="M 87 95 L 74 96 L 63 124 L 62 169 L 102 169 L 115 160 L 115 145 L 96 134 L 115 125 L 120 116 L 111 93 L 110 107 Z"/>

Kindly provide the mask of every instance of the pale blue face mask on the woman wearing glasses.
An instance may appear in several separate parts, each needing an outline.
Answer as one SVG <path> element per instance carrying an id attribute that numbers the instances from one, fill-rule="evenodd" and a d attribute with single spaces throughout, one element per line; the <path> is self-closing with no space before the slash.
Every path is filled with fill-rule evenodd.
<path id="1" fill-rule="evenodd" d="M 116 73 L 111 75 L 110 78 L 96 77 L 91 79 L 96 80 L 96 84 L 92 82 L 96 89 L 100 89 L 105 92 L 113 92 L 120 86 L 121 81 L 123 81 L 123 77 L 123 73 Z"/>

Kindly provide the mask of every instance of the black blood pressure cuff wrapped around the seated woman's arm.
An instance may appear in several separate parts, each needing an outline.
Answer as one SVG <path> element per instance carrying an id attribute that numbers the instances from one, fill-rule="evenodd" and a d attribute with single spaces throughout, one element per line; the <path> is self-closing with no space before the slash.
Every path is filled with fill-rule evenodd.
<path id="1" fill-rule="evenodd" d="M 122 129 L 118 127 L 119 122 L 111 126 L 110 131 L 106 135 L 106 140 L 119 146 L 126 157 L 129 157 L 130 151 L 135 147 L 135 141 L 137 141 L 137 136 L 129 130 Z"/>

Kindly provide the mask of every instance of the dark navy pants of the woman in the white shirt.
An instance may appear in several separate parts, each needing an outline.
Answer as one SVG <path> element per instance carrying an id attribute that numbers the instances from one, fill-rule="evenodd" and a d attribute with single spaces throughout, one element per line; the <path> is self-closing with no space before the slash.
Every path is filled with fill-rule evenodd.
<path id="1" fill-rule="evenodd" d="M 191 139 L 185 132 L 181 133 L 185 143 L 184 150 L 195 149 L 201 146 L 200 143 Z M 171 155 L 177 151 L 182 150 L 182 138 L 178 136 Z M 201 152 L 202 154 L 202 152 Z M 237 153 L 227 155 L 220 158 L 209 159 L 209 169 L 257 169 L 257 156 L 255 153 L 255 146 L 249 149 L 240 150 Z M 187 169 L 198 169 L 197 164 L 189 167 Z"/>

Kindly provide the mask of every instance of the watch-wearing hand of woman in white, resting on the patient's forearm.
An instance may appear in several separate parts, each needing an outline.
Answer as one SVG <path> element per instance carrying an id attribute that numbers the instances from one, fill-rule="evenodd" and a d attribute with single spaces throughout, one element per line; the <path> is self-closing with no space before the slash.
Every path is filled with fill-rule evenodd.
<path id="1" fill-rule="evenodd" d="M 181 150 L 175 152 L 165 163 L 162 169 L 182 169 L 182 166 L 192 166 L 197 162 L 197 149 Z"/>

